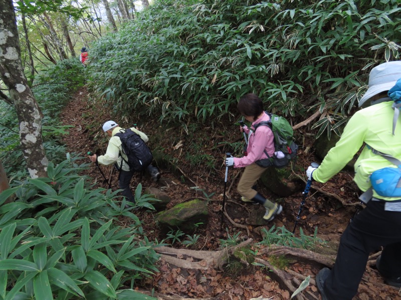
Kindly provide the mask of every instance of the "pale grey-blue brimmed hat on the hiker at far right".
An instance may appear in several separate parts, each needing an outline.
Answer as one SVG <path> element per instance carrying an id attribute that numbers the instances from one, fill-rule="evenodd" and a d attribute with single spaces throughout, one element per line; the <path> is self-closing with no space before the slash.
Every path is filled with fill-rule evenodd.
<path id="1" fill-rule="evenodd" d="M 358 106 L 361 107 L 374 95 L 389 90 L 399 78 L 401 78 L 401 61 L 399 60 L 384 62 L 372 68 L 369 73 L 368 89 L 359 99 Z"/>

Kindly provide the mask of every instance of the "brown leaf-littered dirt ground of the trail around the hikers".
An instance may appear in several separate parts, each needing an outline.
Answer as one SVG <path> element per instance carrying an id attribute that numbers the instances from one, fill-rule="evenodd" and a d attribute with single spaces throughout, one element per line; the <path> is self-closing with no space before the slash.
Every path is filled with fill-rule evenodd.
<path id="1" fill-rule="evenodd" d="M 103 122 L 113 119 L 117 122 L 121 122 L 121 125 L 124 124 L 122 120 L 112 118 L 110 111 L 102 105 L 97 104 L 95 106 L 88 101 L 88 92 L 85 88 L 75 93 L 72 101 L 62 111 L 61 117 L 65 125 L 74 126 L 70 128 L 69 134 L 63 137 L 68 151 L 80 152 L 83 155 L 87 151 L 94 150 L 94 148 L 97 148 L 98 151 L 100 150 L 100 153 L 105 152 L 107 138 L 101 130 Z M 145 116 L 141 121 L 143 124 L 140 124 L 139 129 L 150 137 L 150 147 L 152 148 L 152 136 L 165 134 L 163 138 L 157 141 L 158 146 L 163 148 L 163 151 L 171 157 L 177 157 L 178 162 L 175 166 L 158 164 L 162 172 L 162 177 L 158 182 L 153 182 L 147 177 L 139 178 L 139 176 L 134 176 L 131 181 L 132 189 L 134 190 L 140 182 L 143 189 L 153 186 L 163 190 L 171 198 L 171 202 L 168 204 L 167 208 L 170 208 L 176 203 L 194 198 L 208 201 L 209 221 L 207 224 L 201 224 L 196 229 L 196 232 L 193 233 L 199 234 L 200 238 L 198 242 L 195 245 L 191 245 L 189 249 L 209 251 L 221 250 L 221 239 L 227 240 L 237 236 L 253 238 L 254 242 L 258 242 L 262 240 L 260 230 L 262 228 L 269 230 L 273 225 L 275 225 L 276 228 L 284 226 L 288 228 L 288 230 L 293 229 L 294 221 L 302 200 L 302 190 L 291 196 L 280 198 L 270 192 L 266 187 L 259 186 L 259 191 L 262 194 L 266 195 L 269 199 L 279 201 L 283 205 L 283 212 L 273 221 L 266 223 L 265 226 L 255 226 L 250 221 L 250 216 L 255 212 L 255 209 L 260 210 L 262 208 L 258 207 L 258 205 L 250 205 L 240 201 L 240 196 L 236 192 L 236 184 L 238 183 L 241 169 L 230 171 L 231 174 L 228 179 L 226 191 L 226 211 L 236 224 L 245 226 L 239 227 L 227 217 L 224 217 L 224 224 L 222 226 L 222 203 L 225 183 L 225 166 L 223 160 L 225 153 L 219 147 L 209 146 L 208 144 L 210 141 L 205 140 L 205 154 L 221 157 L 221 163 L 219 161 L 219 165 L 214 167 L 205 166 L 203 168 L 202 164 L 198 167 L 193 167 L 193 163 L 191 164 L 190 161 L 185 159 L 184 155 L 181 155 L 183 151 L 185 153 L 185 151 L 191 150 L 189 149 L 191 144 L 188 142 L 191 138 L 190 136 L 185 136 L 185 132 L 176 133 L 178 139 L 182 141 L 181 145 L 179 145 L 179 143 L 176 143 L 177 136 L 174 136 L 175 139 L 174 142 L 172 142 L 172 131 L 161 127 L 157 119 L 150 119 L 149 116 Z M 227 138 L 224 137 L 225 133 L 222 133 L 222 131 L 226 129 L 231 131 L 233 136 L 237 134 L 241 138 L 237 126 L 220 128 L 219 130 L 212 128 L 212 126 L 204 127 L 203 133 L 212 139 L 212 142 L 216 142 L 219 138 Z M 304 136 L 307 137 L 308 134 Z M 308 148 L 305 145 L 310 145 L 312 141 L 305 140 L 304 138 L 300 147 L 297 163 L 307 166 L 311 161 L 315 161 L 316 158 L 313 156 L 313 153 L 305 150 Z M 89 162 L 89 158 L 87 160 L 83 159 L 82 162 Z M 111 177 L 110 183 L 113 189 L 117 189 L 118 173 L 113 173 L 112 167 L 100 167 L 108 178 Z M 91 176 L 93 180 L 96 180 L 99 186 L 107 187 L 102 174 L 95 164 L 92 164 L 89 169 L 85 171 L 85 174 Z M 303 172 L 295 175 L 305 178 Z M 336 254 L 341 233 L 346 228 L 356 210 L 356 206 L 353 204 L 356 202 L 358 190 L 352 181 L 352 175 L 352 173 L 343 171 L 325 184 L 315 182 L 312 184 L 295 233 L 300 234 L 302 228 L 305 235 L 313 236 L 315 227 L 317 226 L 317 236 L 326 241 L 326 243 L 316 246 L 314 249 L 316 252 L 332 254 L 334 256 Z M 197 189 L 195 189 L 194 186 L 197 186 Z M 341 200 L 343 200 L 343 203 L 341 203 Z M 347 205 L 344 205 L 344 203 Z M 160 241 L 166 238 L 166 236 L 159 231 L 154 221 L 155 218 L 152 211 L 141 209 L 138 210 L 136 214 L 143 221 L 144 231 L 150 240 L 157 239 Z M 129 220 L 122 220 L 122 222 L 124 221 Z M 245 230 L 244 227 L 248 228 L 248 230 Z M 184 236 L 181 237 L 181 240 L 183 239 Z M 166 242 L 171 242 L 171 239 L 167 239 Z M 175 242 L 172 246 L 185 248 L 185 246 L 179 242 Z M 380 249 L 377 249 L 377 251 L 379 250 Z M 259 249 L 259 251 L 262 252 L 261 249 Z M 268 257 L 263 254 L 257 255 L 269 261 L 273 260 L 273 257 Z M 375 268 L 376 255 L 377 253 L 371 253 L 371 259 L 366 265 L 366 270 L 359 284 L 358 293 L 354 299 L 401 299 L 400 290 L 386 285 Z M 298 273 L 302 276 L 310 275 L 312 279 L 314 279 L 317 272 L 325 266 L 313 259 L 305 259 L 296 256 L 288 257 L 286 262 L 287 266 L 285 270 L 288 274 Z M 225 269 L 225 271 L 212 268 L 208 270 L 183 269 L 161 259 L 158 262 L 158 269 L 159 272 L 143 280 L 142 288 L 148 290 L 154 288 L 155 291 L 168 295 L 221 300 L 249 300 L 252 298 L 272 300 L 290 299 L 291 297 L 291 292 L 285 288 L 280 278 L 278 278 L 274 272 L 269 272 L 269 269 L 260 266 L 241 266 L 237 269 L 233 267 L 232 269 Z M 306 290 L 303 291 L 303 294 L 307 299 L 321 298 L 314 280 L 311 280 L 311 283 Z"/>

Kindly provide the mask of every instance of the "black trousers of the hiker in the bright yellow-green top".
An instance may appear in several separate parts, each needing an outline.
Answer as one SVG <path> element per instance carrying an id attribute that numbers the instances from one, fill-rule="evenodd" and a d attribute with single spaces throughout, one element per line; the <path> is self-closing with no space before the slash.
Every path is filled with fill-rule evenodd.
<path id="1" fill-rule="evenodd" d="M 384 203 L 370 200 L 349 223 L 340 239 L 337 258 L 324 281 L 330 300 L 351 300 L 365 271 L 369 253 L 384 246 L 380 269 L 384 276 L 401 276 L 401 212 L 384 210 Z"/>

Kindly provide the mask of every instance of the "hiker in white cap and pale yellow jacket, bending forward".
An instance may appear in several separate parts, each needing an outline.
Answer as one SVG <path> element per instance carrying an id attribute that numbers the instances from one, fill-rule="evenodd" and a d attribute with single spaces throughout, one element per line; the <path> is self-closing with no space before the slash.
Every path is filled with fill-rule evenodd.
<path id="1" fill-rule="evenodd" d="M 130 129 L 138 134 L 144 142 L 148 141 L 148 137 L 145 133 L 139 131 L 136 127 L 131 127 Z M 132 194 L 131 188 L 129 187 L 129 183 L 135 171 L 130 170 L 129 165 L 126 163 L 127 156 L 125 155 L 124 151 L 122 151 L 121 139 L 116 135 L 116 133 L 125 132 L 125 129 L 119 127 L 116 122 L 110 120 L 103 124 L 103 131 L 110 136 L 106 153 L 99 156 L 96 154 L 90 155 L 89 159 L 92 162 L 97 161 L 98 163 L 104 165 L 115 164 L 118 169 L 121 168 L 118 179 L 118 184 L 123 190 L 121 193 L 129 201 L 135 202 L 135 198 Z M 160 178 L 160 171 L 152 164 L 149 164 L 146 170 L 154 181 L 157 181 Z"/>

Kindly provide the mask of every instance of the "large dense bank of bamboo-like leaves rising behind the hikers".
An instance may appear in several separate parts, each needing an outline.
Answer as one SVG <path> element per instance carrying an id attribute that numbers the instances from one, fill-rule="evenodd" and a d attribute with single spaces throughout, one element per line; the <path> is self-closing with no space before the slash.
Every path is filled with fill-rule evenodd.
<path id="1" fill-rule="evenodd" d="M 399 59 L 397 0 L 158 0 L 92 46 L 89 84 L 115 113 L 183 124 L 227 115 L 255 92 L 273 112 L 317 128 L 339 122 L 369 69 Z M 229 115 L 229 114 L 228 114 Z"/>

